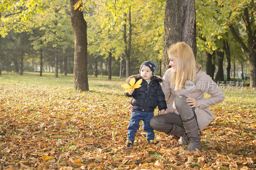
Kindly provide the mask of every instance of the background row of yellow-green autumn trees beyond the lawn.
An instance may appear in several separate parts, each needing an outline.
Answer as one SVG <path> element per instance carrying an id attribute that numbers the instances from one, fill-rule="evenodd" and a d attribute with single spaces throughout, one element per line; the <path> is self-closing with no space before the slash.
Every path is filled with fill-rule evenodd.
<path id="1" fill-rule="evenodd" d="M 4 1 L 0 6 L 0 70 L 21 75 L 24 70 L 37 70 L 42 75 L 44 70 L 55 72 L 55 77 L 58 73 L 73 73 L 76 41 L 72 30 L 74 22 L 70 22 L 70 5 L 76 4 L 86 21 L 88 74 L 108 75 L 108 79 L 112 75 L 119 76 L 122 56 L 124 77 L 137 74 L 144 60 L 152 60 L 157 67 L 156 74 L 161 75 L 164 71 L 161 70 L 162 54 L 166 53 L 163 49 L 168 46 L 163 43 L 163 38 L 164 42 L 168 41 L 164 36 L 164 32 L 168 33 L 164 23 L 168 22 L 168 9 L 170 15 L 178 16 L 180 2 Z M 255 87 L 256 1 L 191 2 L 195 6 L 196 21 L 192 22 L 191 15 L 185 23 L 189 25 L 192 19 L 192 24 L 196 25 L 196 43 L 189 45 L 195 46 L 196 59 L 206 73 L 214 81 L 230 81 L 235 72 L 242 71 L 242 75 L 250 72 L 250 87 Z M 186 35 L 176 31 L 179 25 L 173 26 L 168 34 Z M 162 69 L 163 66 L 164 63 Z"/>

